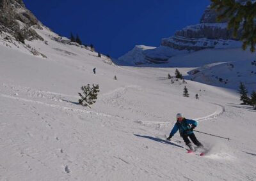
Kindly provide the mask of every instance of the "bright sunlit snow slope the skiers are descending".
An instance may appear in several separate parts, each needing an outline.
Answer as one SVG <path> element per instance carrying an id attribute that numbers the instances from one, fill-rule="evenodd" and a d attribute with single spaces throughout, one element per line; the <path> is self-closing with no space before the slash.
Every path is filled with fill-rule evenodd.
<path id="1" fill-rule="evenodd" d="M 255 110 L 234 89 L 171 84 L 175 68 L 115 66 L 38 33 L 47 44 L 26 43 L 47 59 L 0 43 L 0 180 L 256 180 Z M 100 87 L 92 109 L 77 105 L 88 83 Z M 208 152 L 186 153 L 179 133 L 165 140 L 178 112 L 230 140 L 195 133 Z"/>

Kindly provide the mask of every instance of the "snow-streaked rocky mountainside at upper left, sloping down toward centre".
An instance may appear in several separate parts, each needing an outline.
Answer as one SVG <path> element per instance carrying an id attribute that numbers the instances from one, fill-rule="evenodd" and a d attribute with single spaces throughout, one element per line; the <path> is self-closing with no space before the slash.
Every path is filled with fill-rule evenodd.
<path id="1" fill-rule="evenodd" d="M 79 45 L 51 31 L 26 8 L 22 0 L 0 0 L 0 45 L 49 59 L 54 58 L 51 50 L 55 51 L 54 54 L 76 56 L 75 52 L 81 49 L 85 54 L 99 56 L 94 48 Z M 58 48 L 60 46 L 62 48 Z M 100 57 L 101 61 L 113 64 L 106 55 Z"/>

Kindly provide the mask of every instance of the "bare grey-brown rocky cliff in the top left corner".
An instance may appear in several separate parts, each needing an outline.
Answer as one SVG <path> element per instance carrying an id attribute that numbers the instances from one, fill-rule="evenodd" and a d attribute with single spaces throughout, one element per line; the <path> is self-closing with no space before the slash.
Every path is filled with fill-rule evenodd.
<path id="1" fill-rule="evenodd" d="M 9 33 L 19 41 L 44 40 L 31 26 L 42 28 L 22 0 L 0 0 L 0 33 Z"/>

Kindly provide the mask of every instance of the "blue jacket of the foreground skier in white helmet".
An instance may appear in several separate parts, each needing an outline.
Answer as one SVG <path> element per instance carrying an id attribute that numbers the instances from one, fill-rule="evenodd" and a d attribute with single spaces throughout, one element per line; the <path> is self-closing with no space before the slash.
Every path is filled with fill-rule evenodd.
<path id="1" fill-rule="evenodd" d="M 179 130 L 180 132 L 180 136 L 182 136 L 182 134 L 184 133 L 184 131 L 186 131 L 187 134 L 192 134 L 193 131 L 189 131 L 189 129 L 191 128 L 191 126 L 189 124 L 193 124 L 195 126 L 197 126 L 197 122 L 195 120 L 192 119 L 183 119 L 182 121 L 178 121 L 175 123 L 171 133 L 170 133 L 170 138 L 172 138 L 172 136 L 177 133 L 177 131 Z"/>

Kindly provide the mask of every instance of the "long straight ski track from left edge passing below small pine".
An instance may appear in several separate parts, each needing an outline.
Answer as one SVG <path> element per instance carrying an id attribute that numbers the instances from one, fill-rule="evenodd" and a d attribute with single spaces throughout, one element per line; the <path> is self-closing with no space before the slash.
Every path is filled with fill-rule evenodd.
<path id="1" fill-rule="evenodd" d="M 69 111 L 72 111 L 72 112 L 82 112 L 82 113 L 90 113 L 90 114 L 95 114 L 95 115 L 102 115 L 102 116 L 105 116 L 105 117 L 114 117 L 113 115 L 108 115 L 108 114 L 105 114 L 105 113 L 97 113 L 97 112 L 82 110 L 82 109 L 78 109 L 78 108 L 70 108 L 70 107 L 67 107 L 67 106 L 59 106 L 59 105 L 44 103 L 44 102 L 41 102 L 41 101 L 33 101 L 31 99 L 18 98 L 18 97 L 15 97 L 15 96 L 8 96 L 6 94 L 1 94 L 1 93 L 0 93 L 0 96 L 3 97 L 3 98 L 15 99 L 17 101 L 25 101 L 25 102 L 29 102 L 29 103 L 37 103 L 37 104 L 40 104 L 40 105 L 51 106 L 52 108 L 61 108 L 62 110 L 69 110 Z"/>

